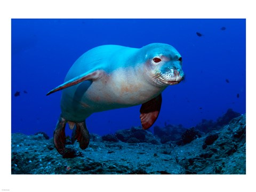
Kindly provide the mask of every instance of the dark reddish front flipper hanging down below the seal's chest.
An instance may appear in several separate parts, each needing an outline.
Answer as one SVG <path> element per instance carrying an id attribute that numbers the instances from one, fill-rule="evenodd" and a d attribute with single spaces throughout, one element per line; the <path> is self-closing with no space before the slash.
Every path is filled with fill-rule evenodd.
<path id="1" fill-rule="evenodd" d="M 140 108 L 140 121 L 143 130 L 148 129 L 155 123 L 161 109 L 161 104 L 161 94 L 159 94 L 156 98 L 142 104 Z"/>

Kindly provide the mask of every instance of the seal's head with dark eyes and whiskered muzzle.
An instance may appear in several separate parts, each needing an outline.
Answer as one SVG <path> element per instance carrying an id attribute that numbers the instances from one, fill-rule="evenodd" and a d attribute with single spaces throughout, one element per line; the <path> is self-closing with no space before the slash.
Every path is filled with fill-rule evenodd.
<path id="1" fill-rule="evenodd" d="M 171 45 L 152 43 L 140 49 L 145 63 L 143 70 L 156 86 L 175 85 L 184 79 L 180 53 Z"/>

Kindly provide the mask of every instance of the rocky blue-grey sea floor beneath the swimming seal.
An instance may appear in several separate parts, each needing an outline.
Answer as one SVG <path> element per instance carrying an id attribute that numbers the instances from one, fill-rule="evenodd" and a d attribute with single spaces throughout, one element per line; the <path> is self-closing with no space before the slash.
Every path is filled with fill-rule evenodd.
<path id="1" fill-rule="evenodd" d="M 234 117 L 235 114 L 235 118 Z M 210 129 L 210 128 L 211 129 Z M 154 127 L 154 134 L 132 127 L 100 137 L 90 134 L 85 150 L 61 156 L 45 133 L 12 134 L 12 174 L 246 174 L 246 117 L 232 110 L 216 122 L 203 120 Z"/>

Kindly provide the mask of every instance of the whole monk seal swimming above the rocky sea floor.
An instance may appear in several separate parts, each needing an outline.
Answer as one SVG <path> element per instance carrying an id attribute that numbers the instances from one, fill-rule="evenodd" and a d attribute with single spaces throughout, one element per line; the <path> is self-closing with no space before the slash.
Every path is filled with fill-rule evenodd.
<path id="1" fill-rule="evenodd" d="M 99 111 L 142 104 L 142 129 L 156 121 L 162 91 L 182 81 L 182 58 L 171 45 L 152 43 L 140 49 L 102 45 L 79 57 L 69 69 L 65 83 L 48 92 L 63 90 L 61 115 L 54 130 L 54 144 L 61 155 L 65 148 L 65 125 L 73 130 L 79 147 L 89 145 L 85 119 Z"/>

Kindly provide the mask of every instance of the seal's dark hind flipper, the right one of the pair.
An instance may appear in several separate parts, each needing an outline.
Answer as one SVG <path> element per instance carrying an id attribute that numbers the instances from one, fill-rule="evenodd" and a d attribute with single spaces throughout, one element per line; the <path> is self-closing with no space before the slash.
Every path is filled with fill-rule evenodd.
<path id="1" fill-rule="evenodd" d="M 76 123 L 76 136 L 81 149 L 86 149 L 89 145 L 90 137 L 85 122 Z"/>

